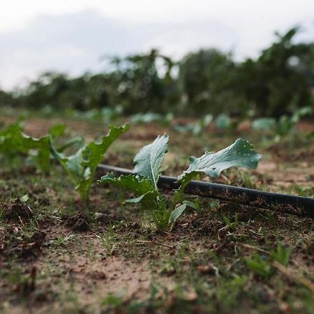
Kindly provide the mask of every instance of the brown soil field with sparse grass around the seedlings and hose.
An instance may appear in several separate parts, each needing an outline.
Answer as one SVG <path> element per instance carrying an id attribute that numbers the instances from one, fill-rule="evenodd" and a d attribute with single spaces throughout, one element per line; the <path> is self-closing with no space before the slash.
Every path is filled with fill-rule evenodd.
<path id="1" fill-rule="evenodd" d="M 56 123 L 86 140 L 107 133 L 100 121 L 32 115 L 25 133 L 38 137 Z M 156 123 L 131 125 L 103 162 L 132 169 L 137 151 L 167 133 L 163 173 L 177 176 L 188 156 L 244 137 L 262 154 L 257 169 L 231 168 L 211 181 L 313 197 L 313 120 L 279 141 L 265 141 L 249 124 L 232 132 L 209 124 L 197 136 Z M 156 231 L 147 211 L 125 202 L 132 196 L 125 190 L 93 184 L 86 203 L 55 163 L 45 175 L 25 158 L 1 163 L 1 313 L 314 311 L 311 218 L 188 196 L 195 209 L 188 207 L 172 230 Z M 97 171 L 95 181 L 103 174 Z"/>

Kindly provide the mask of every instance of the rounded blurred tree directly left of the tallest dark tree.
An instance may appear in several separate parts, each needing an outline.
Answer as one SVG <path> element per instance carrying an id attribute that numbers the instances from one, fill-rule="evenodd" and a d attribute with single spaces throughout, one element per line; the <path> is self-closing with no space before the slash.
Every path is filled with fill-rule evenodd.
<path id="1" fill-rule="evenodd" d="M 181 88 L 186 94 L 190 114 L 239 113 L 245 101 L 232 86 L 236 66 L 232 54 L 216 49 L 188 54 L 180 66 Z"/>

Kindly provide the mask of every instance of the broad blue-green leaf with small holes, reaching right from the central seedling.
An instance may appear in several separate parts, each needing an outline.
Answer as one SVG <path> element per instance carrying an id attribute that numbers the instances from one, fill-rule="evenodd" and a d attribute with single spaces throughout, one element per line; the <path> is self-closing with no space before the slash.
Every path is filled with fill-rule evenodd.
<path id="1" fill-rule="evenodd" d="M 218 177 L 220 172 L 234 166 L 255 168 L 261 157 L 247 140 L 238 139 L 217 153 L 207 151 L 200 158 L 190 157 L 190 166 L 178 179 L 182 184 L 186 184 L 197 172 L 204 172 L 209 177 Z"/>

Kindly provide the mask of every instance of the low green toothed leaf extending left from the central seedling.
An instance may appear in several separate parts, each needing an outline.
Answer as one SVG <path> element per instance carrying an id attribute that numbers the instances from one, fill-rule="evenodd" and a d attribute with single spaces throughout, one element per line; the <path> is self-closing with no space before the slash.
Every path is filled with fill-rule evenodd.
<path id="1" fill-rule="evenodd" d="M 129 202 L 146 202 L 153 204 L 158 197 L 158 191 L 155 189 L 154 184 L 146 177 L 140 175 L 129 174 L 127 176 L 114 177 L 112 172 L 101 177 L 97 184 L 113 184 L 121 188 L 126 188 L 132 191 L 137 197 Z"/>

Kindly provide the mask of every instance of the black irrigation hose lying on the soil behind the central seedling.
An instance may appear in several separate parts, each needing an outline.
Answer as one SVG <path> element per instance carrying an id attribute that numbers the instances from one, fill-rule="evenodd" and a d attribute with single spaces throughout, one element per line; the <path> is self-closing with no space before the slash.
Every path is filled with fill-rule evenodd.
<path id="1" fill-rule="evenodd" d="M 133 174 L 132 170 L 111 165 L 100 164 L 98 165 L 98 169 L 107 172 L 112 171 L 116 175 Z M 173 190 L 179 188 L 179 184 L 177 184 L 177 178 L 175 177 L 161 176 L 158 181 L 158 187 L 165 190 Z M 264 192 L 251 188 L 239 188 L 237 186 L 227 186 L 203 181 L 191 181 L 190 184 L 186 186 L 184 192 L 200 195 L 202 197 L 211 197 L 217 200 L 239 202 L 240 204 L 251 207 L 314 218 L 314 198 L 311 197 Z"/>

